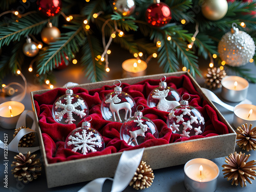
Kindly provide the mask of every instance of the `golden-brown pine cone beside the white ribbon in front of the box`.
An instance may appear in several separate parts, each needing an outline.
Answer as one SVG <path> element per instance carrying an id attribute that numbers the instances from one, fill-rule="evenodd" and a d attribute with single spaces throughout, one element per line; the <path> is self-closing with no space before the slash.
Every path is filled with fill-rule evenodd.
<path id="1" fill-rule="evenodd" d="M 146 165 L 146 162 L 141 161 L 132 181 L 130 182 L 130 186 L 133 186 L 133 188 L 137 190 L 148 188 L 152 185 L 154 178 L 155 176 L 150 165 Z"/>

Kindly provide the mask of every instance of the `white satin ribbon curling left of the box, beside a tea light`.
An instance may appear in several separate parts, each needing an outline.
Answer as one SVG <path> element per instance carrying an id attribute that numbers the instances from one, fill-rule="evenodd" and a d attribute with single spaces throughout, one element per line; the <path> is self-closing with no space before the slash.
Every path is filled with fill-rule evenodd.
<path id="1" fill-rule="evenodd" d="M 9 145 L 6 147 L 5 143 L 0 140 L 0 148 L 8 148 L 8 151 L 12 151 L 15 153 L 22 153 L 22 154 L 27 154 L 29 151 L 31 153 L 39 150 L 39 146 L 36 147 L 18 147 L 19 140 L 26 134 L 31 133 L 31 132 L 36 132 L 35 131 L 35 120 L 34 120 L 34 115 L 32 111 L 25 110 L 22 114 L 20 114 L 20 117 L 17 121 L 16 124 L 16 129 L 20 126 L 26 126 L 26 116 L 29 116 L 33 119 L 33 124 L 31 129 L 22 129 L 20 130 L 17 135 L 14 137 L 14 139 L 9 143 Z"/>

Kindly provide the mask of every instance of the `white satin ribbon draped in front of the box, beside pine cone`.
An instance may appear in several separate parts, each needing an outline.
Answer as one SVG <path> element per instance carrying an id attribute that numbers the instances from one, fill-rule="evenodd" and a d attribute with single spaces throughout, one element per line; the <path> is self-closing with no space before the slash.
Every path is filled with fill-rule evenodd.
<path id="1" fill-rule="evenodd" d="M 118 162 L 114 179 L 98 178 L 86 186 L 82 187 L 78 192 L 101 192 L 105 180 L 112 180 L 111 192 L 123 191 L 131 182 L 137 167 L 140 164 L 144 148 L 138 150 L 124 151 Z"/>

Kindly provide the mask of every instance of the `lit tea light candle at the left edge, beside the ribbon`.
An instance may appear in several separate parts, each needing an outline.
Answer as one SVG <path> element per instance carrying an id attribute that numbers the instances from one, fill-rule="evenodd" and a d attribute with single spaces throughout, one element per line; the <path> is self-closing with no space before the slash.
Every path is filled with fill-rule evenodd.
<path id="1" fill-rule="evenodd" d="M 18 118 L 24 110 L 24 104 L 17 101 L 0 104 L 0 126 L 4 129 L 15 129 Z"/>

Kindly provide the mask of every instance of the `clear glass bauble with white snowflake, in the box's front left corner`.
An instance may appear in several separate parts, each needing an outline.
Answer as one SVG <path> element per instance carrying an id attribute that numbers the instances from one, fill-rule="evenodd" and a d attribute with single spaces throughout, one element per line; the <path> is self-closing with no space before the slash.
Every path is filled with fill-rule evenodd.
<path id="1" fill-rule="evenodd" d="M 105 143 L 103 137 L 97 130 L 91 127 L 89 121 L 82 122 L 81 127 L 73 130 L 68 135 L 65 141 L 65 148 L 83 155 L 104 150 Z"/>

